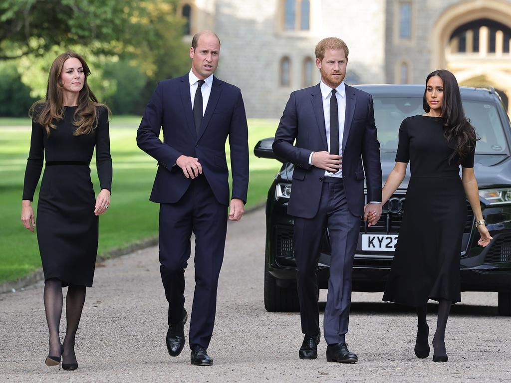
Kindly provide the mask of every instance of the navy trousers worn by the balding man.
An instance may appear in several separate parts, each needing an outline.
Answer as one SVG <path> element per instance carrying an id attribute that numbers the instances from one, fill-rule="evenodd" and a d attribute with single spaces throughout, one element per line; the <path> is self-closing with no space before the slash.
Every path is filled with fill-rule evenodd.
<path id="1" fill-rule="evenodd" d="M 220 204 L 204 175 L 192 180 L 176 203 L 161 203 L 159 261 L 161 280 L 169 302 L 169 324 L 182 319 L 184 269 L 195 234 L 195 292 L 190 318 L 190 348 L 207 348 L 215 324 L 217 285 L 222 266 L 227 206 Z"/>

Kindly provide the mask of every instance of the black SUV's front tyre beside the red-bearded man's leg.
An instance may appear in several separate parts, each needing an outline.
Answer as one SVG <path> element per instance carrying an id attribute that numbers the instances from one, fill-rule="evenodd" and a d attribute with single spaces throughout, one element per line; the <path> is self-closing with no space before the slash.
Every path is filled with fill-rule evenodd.
<path id="1" fill-rule="evenodd" d="M 298 290 L 281 288 L 269 272 L 268 254 L 264 262 L 264 307 L 269 312 L 299 312 Z"/>

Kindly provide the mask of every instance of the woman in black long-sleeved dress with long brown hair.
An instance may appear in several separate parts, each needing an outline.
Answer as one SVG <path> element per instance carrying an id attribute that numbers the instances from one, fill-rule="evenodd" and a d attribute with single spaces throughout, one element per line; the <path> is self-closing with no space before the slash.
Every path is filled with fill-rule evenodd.
<path id="1" fill-rule="evenodd" d="M 110 204 L 112 160 L 108 108 L 99 104 L 87 84 L 85 60 L 65 52 L 55 59 L 47 96 L 31 108 L 32 138 L 25 172 L 21 220 L 34 231 L 34 192 L 44 174 L 37 205 L 37 241 L 44 272 L 44 309 L 50 330 L 48 366 L 78 367 L 75 336 L 85 288 L 92 286 L 98 251 L 98 216 Z M 95 197 L 89 163 L 96 148 L 101 191 Z M 62 287 L 66 295 L 67 328 L 60 343 Z"/>

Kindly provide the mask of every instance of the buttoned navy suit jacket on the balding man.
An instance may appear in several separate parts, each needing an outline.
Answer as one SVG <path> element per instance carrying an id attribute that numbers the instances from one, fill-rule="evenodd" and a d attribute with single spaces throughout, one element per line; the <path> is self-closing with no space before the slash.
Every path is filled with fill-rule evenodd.
<path id="1" fill-rule="evenodd" d="M 158 138 L 163 129 L 164 140 Z M 147 104 L 136 141 L 158 161 L 150 200 L 175 203 L 187 191 L 191 178 L 175 165 L 180 155 L 196 157 L 217 201 L 229 205 L 229 172 L 225 142 L 229 137 L 233 173 L 231 198 L 246 202 L 248 189 L 248 129 L 241 91 L 213 78 L 202 125 L 196 133 L 188 74 L 160 81 Z"/>

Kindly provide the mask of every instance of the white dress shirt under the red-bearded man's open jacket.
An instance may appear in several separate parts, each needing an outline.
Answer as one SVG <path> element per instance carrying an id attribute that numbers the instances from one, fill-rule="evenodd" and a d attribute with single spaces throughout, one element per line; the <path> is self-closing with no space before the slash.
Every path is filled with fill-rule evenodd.
<path id="1" fill-rule="evenodd" d="M 319 83 L 321 89 L 321 98 L 323 100 L 323 114 L 324 114 L 324 127 L 327 131 L 327 144 L 328 151 L 330 152 L 330 99 L 332 98 L 332 88 L 324 82 Z M 346 114 L 346 88 L 344 87 L 344 81 L 335 88 L 335 97 L 337 99 L 337 110 L 339 111 L 339 155 L 342 156 L 342 136 L 344 134 L 344 116 Z M 312 152 L 309 156 L 309 165 L 312 165 Z M 324 171 L 326 177 L 337 177 L 342 178 L 342 166 L 337 173 L 331 173 Z"/>

